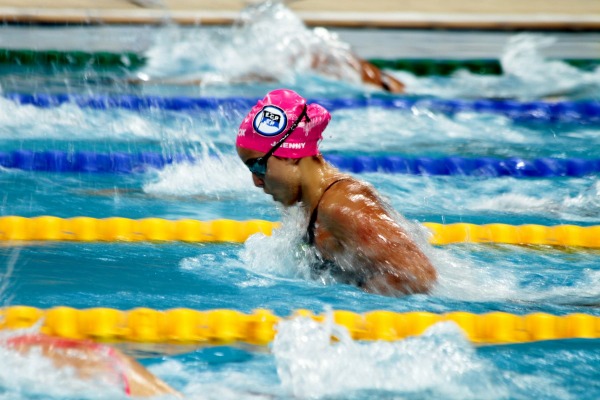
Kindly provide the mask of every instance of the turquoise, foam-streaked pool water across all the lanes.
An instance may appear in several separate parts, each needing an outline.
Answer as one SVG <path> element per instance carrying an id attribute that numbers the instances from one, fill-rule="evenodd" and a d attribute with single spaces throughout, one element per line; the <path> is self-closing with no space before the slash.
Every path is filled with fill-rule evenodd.
<path id="1" fill-rule="evenodd" d="M 254 30 L 263 28 L 260 21 L 252 25 Z M 221 70 L 226 71 L 223 74 L 232 72 L 227 66 L 235 57 L 232 55 L 235 46 L 222 46 L 228 41 L 236 43 L 228 30 L 211 30 L 208 35 L 202 31 L 170 29 L 157 34 L 160 40 L 149 51 L 156 55 L 151 58 L 154 63 L 147 73 L 159 73 L 161 68 L 163 72 L 170 68 L 169 73 L 201 70 L 205 76 Z M 290 25 L 290 34 L 308 34 L 301 29 Z M 199 43 L 198 37 L 213 41 Z M 204 69 L 194 62 L 198 58 L 192 50 L 199 46 L 207 55 L 203 59 Z M 263 43 L 257 46 L 260 48 Z M 212 57 L 217 47 L 222 51 L 221 58 Z M 165 55 L 166 49 L 170 52 Z M 238 57 L 238 63 L 244 59 Z M 587 89 L 599 81 L 594 80 L 593 73 L 579 73 L 568 82 L 555 79 L 550 84 L 557 75 L 553 75 L 552 68 L 545 73 L 546 88 L 555 85 L 554 89 L 576 89 L 583 85 Z M 307 97 L 358 97 L 365 95 L 365 91 L 368 96 L 380 95 L 356 83 L 325 79 L 307 71 L 281 74 L 286 86 Z M 463 89 L 460 94 L 450 93 L 452 96 L 466 97 L 498 93 L 495 89 L 480 92 L 482 87 L 502 87 L 502 93 L 506 93 L 515 85 L 514 76 L 499 77 L 492 83 L 464 75 L 447 80 L 403 77 L 414 88 L 427 87 L 423 92 L 415 89 L 416 94 L 440 97 L 446 96 L 447 88 L 452 85 Z M 84 95 L 252 98 L 281 84 L 225 82 L 202 87 L 147 88 L 93 79 L 90 83 L 83 75 L 63 82 L 57 82 L 52 74 L 29 75 L 29 82 L 21 78 L 14 74 L 5 78 L 4 93 L 19 88 L 22 92 L 46 94 L 66 91 Z M 466 93 L 465 79 L 473 84 L 470 93 Z M 538 80 L 528 82 L 530 87 L 539 85 Z M 521 97 L 522 93 L 526 93 L 524 97 L 545 94 L 543 90 L 526 89 L 527 85 L 518 87 L 512 94 L 515 97 Z M 567 97 L 576 91 L 570 89 Z M 581 91 L 577 93 L 581 96 Z M 5 305 L 44 309 L 59 305 L 121 310 L 225 308 L 245 313 L 266 308 L 282 316 L 297 309 L 321 313 L 329 308 L 360 313 L 503 311 L 517 315 L 581 312 L 600 316 L 598 250 L 501 244 L 433 247 L 427 244 L 424 230 L 418 225 L 422 222 L 597 225 L 600 221 L 597 174 L 546 178 L 358 174 L 410 221 L 411 230 L 440 275 L 431 295 L 388 298 L 366 294 L 352 286 L 309 279 L 308 267 L 296 251 L 300 235 L 297 228 L 305 221 L 293 210 L 279 209 L 254 188 L 247 169 L 235 155 L 233 133 L 247 109 L 94 109 L 73 103 L 42 108 L 6 98 L 0 99 L 0 105 L 3 110 L 0 151 L 3 152 L 154 152 L 164 156 L 190 154 L 195 159 L 159 170 L 127 174 L 2 169 L 2 216 L 283 222 L 275 235 L 257 235 L 243 245 L 10 243 L 0 247 L 4 270 L 1 299 Z M 478 111 L 447 114 L 424 107 L 404 110 L 355 107 L 333 112 L 322 150 L 325 154 L 343 156 L 598 159 L 597 130 L 597 125 L 577 120 L 568 124 L 531 124 Z M 596 340 L 474 346 L 456 326 L 445 323 L 435 325 L 422 336 L 394 343 L 358 343 L 342 337 L 340 342 L 331 344 L 329 329 L 308 320 L 284 323 L 270 351 L 243 344 L 200 348 L 120 346 L 137 355 L 186 398 L 593 399 L 600 395 L 597 384 L 600 351 Z M 76 380 L 66 380 L 67 372 L 53 372 L 41 359 L 30 357 L 24 361 L 3 350 L 2 356 L 8 366 L 0 369 L 4 398 L 118 396 L 107 387 L 98 390 Z M 47 379 L 42 382 L 35 379 L 40 373 Z"/>

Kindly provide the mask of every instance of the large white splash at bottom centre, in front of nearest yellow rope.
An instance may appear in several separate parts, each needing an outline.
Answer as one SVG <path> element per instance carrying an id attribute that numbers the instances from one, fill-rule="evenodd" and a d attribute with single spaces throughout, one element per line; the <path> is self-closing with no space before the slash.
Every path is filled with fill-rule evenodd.
<path id="1" fill-rule="evenodd" d="M 206 361 L 169 360 L 150 369 L 191 399 L 507 396 L 493 364 L 452 323 L 398 342 L 352 341 L 331 315 L 325 323 L 284 320 L 276 329 L 272 355 L 255 355 L 246 365 L 210 368 Z"/>

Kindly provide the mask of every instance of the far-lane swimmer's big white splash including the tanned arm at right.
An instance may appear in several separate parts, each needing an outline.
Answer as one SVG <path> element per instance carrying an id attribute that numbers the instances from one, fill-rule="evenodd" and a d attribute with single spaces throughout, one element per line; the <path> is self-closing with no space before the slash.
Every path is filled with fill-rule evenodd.
<path id="1" fill-rule="evenodd" d="M 177 31 L 172 34 L 173 40 L 181 40 Z M 171 40 L 156 43 L 146 53 L 146 68 L 128 82 L 203 86 L 291 83 L 303 74 L 318 74 L 391 93 L 404 91 L 402 82 L 361 59 L 337 35 L 322 27 L 307 28 L 281 3 L 247 7 L 233 27 L 213 34 L 210 39 L 216 44 L 209 48 L 202 44 L 205 36 L 190 35 L 182 48 Z M 167 65 L 165 60 L 171 62 Z"/>

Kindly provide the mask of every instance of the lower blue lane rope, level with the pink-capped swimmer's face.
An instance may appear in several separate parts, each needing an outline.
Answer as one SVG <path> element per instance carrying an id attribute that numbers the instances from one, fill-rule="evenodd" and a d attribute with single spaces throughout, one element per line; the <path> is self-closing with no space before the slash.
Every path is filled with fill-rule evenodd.
<path id="1" fill-rule="evenodd" d="M 383 172 L 410 175 L 464 175 L 480 177 L 512 176 L 581 177 L 600 172 L 600 159 L 581 158 L 493 158 L 493 157 L 402 157 L 343 156 L 327 154 L 336 167 L 354 173 Z M 0 167 L 25 171 L 136 173 L 150 168 L 162 169 L 169 164 L 196 162 L 192 155 L 164 156 L 155 152 L 96 153 L 89 151 L 0 152 Z"/>

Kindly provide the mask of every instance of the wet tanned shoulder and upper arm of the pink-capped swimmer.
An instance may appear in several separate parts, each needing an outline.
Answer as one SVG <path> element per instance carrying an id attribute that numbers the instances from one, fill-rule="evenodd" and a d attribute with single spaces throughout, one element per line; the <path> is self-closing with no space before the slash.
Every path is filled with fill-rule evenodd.
<path id="1" fill-rule="evenodd" d="M 432 288 L 435 268 L 369 190 L 350 187 L 348 192 L 326 193 L 323 200 L 319 221 L 368 268 L 361 285 L 365 291 L 393 296 Z"/>

